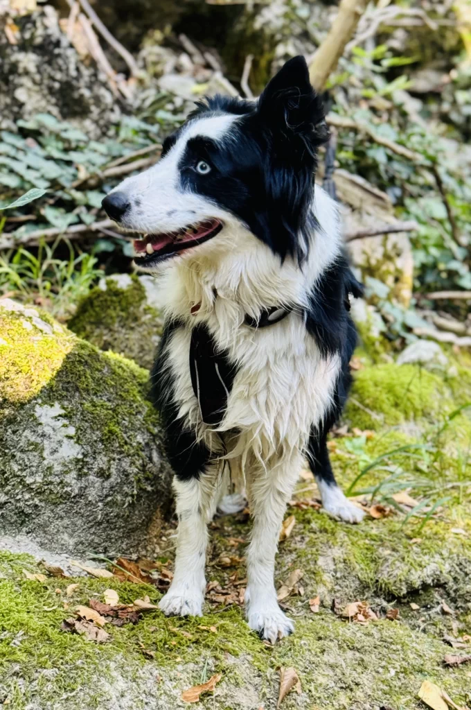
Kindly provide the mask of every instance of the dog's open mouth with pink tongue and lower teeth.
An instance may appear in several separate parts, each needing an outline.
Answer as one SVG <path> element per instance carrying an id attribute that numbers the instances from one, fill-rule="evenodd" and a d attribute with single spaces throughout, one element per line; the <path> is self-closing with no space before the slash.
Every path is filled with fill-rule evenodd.
<path id="1" fill-rule="evenodd" d="M 222 228 L 223 224 L 218 219 L 205 219 L 204 222 L 191 224 L 169 234 L 143 234 L 140 239 L 133 241 L 137 255 L 134 263 L 144 268 L 151 266 L 179 251 L 204 244 L 205 241 L 216 236 Z"/>

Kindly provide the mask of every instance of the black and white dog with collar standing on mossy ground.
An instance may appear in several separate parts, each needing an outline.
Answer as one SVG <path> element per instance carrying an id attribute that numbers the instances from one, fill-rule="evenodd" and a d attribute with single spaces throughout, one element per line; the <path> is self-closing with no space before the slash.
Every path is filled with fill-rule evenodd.
<path id="1" fill-rule="evenodd" d="M 250 628 L 275 642 L 293 624 L 277 603 L 275 553 L 307 457 L 323 507 L 358 523 L 333 477 L 327 432 L 345 403 L 360 285 L 336 203 L 316 187 L 328 131 L 304 58 L 257 102 L 217 96 L 166 138 L 160 162 L 104 200 L 138 231 L 135 263 L 162 271 L 166 325 L 153 370 L 176 473 L 179 519 L 167 614 L 201 615 L 206 524 L 238 471 L 254 518 L 245 594 Z"/>

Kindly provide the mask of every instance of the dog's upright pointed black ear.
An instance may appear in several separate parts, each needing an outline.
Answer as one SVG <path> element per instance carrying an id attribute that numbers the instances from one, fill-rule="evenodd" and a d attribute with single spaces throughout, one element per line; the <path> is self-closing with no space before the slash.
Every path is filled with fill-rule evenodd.
<path id="1" fill-rule="evenodd" d="M 309 133 L 317 144 L 328 137 L 322 99 L 311 86 L 309 69 L 301 55 L 288 60 L 268 82 L 258 100 L 258 114 L 285 136 Z"/>

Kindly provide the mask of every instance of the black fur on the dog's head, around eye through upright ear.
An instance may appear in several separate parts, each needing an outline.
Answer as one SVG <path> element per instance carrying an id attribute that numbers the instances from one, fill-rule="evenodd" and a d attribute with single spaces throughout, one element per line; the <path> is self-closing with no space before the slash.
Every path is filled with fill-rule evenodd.
<path id="1" fill-rule="evenodd" d="M 302 261 L 315 226 L 317 149 L 328 138 L 306 61 L 289 60 L 258 102 L 209 98 L 191 118 L 223 113 L 240 119 L 223 141 L 203 136 L 188 141 L 179 164 L 182 185 L 235 214 L 282 259 L 290 255 Z M 165 143 L 164 151 L 170 146 Z M 199 160 L 209 163 L 210 173 L 196 172 Z"/>

